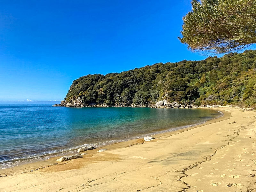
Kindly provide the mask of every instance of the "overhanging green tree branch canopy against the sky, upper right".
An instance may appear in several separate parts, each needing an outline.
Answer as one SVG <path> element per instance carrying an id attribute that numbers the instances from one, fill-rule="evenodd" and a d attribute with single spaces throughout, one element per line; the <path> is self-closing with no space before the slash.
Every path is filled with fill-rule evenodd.
<path id="1" fill-rule="evenodd" d="M 192 51 L 233 52 L 256 43 L 256 0 L 192 0 L 181 43 Z"/>

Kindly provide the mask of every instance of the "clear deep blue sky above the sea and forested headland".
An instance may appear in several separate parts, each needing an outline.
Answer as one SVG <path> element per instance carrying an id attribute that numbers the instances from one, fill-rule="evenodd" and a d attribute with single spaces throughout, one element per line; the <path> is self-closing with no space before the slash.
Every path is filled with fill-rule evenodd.
<path id="1" fill-rule="evenodd" d="M 178 40 L 190 0 L 0 2 L 0 101 L 61 100 L 72 81 L 201 60 Z"/>

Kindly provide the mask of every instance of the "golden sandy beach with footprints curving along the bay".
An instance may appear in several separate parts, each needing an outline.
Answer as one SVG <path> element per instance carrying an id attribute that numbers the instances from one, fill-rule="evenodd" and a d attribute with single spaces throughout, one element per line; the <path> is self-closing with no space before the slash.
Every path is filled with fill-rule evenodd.
<path id="1" fill-rule="evenodd" d="M 221 107 L 224 116 L 155 140 L 0 170 L 0 191 L 256 191 L 256 113 Z"/>

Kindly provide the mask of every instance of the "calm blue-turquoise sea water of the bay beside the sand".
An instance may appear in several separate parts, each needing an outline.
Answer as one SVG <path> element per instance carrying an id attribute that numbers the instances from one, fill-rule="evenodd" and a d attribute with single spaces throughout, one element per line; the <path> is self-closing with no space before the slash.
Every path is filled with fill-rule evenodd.
<path id="1" fill-rule="evenodd" d="M 44 160 L 201 124 L 220 113 L 209 109 L 66 108 L 51 104 L 0 104 L 0 166 Z"/>

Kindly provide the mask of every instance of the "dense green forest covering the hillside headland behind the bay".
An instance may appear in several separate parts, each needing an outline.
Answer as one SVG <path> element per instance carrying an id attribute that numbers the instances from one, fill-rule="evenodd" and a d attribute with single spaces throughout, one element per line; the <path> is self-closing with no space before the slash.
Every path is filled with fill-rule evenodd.
<path id="1" fill-rule="evenodd" d="M 106 105 L 148 104 L 167 99 L 182 104 L 256 103 L 256 50 L 200 61 L 156 63 L 122 73 L 82 76 L 65 98 Z"/>

